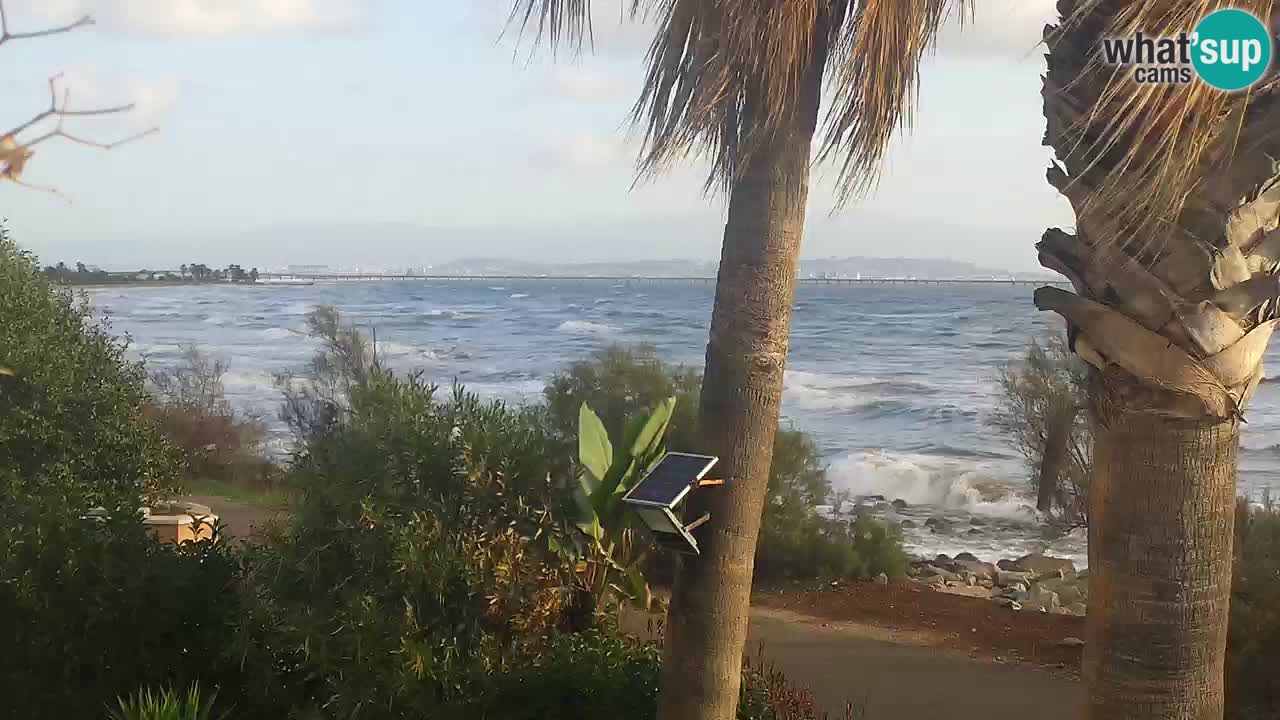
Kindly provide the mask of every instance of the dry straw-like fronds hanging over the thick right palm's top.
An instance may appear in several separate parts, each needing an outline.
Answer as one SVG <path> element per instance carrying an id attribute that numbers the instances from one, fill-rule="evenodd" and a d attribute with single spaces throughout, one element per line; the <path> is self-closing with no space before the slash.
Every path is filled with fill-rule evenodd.
<path id="1" fill-rule="evenodd" d="M 1228 6 L 1261 18 L 1271 15 L 1271 0 L 1060 1 L 1065 17 L 1059 33 L 1048 38 L 1051 45 L 1068 41 L 1069 29 L 1096 23 L 1098 17 L 1111 18 L 1107 27 L 1096 28 L 1097 33 L 1082 33 L 1093 46 L 1078 49 L 1088 58 L 1075 69 L 1079 79 L 1056 88 L 1070 97 L 1070 105 L 1091 108 L 1064 128 L 1073 142 L 1066 156 L 1060 151 L 1071 169 L 1071 182 L 1083 184 L 1078 195 L 1084 201 L 1076 214 L 1082 225 L 1092 229 L 1091 243 L 1119 243 L 1134 256 L 1158 254 L 1183 215 L 1188 195 L 1206 177 L 1206 165 L 1235 151 L 1242 110 L 1252 97 L 1202 82 L 1137 83 L 1125 68 L 1106 64 L 1102 36 L 1192 32 L 1201 18 Z M 1089 87 L 1101 92 L 1088 96 Z M 1060 190 L 1073 195 L 1069 188 Z"/>

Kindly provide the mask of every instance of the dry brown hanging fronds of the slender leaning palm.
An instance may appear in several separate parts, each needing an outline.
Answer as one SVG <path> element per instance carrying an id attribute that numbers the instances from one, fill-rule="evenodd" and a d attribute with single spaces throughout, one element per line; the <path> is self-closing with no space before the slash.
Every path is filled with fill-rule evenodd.
<path id="1" fill-rule="evenodd" d="M 650 10 L 659 18 L 632 110 L 644 128 L 641 174 L 704 156 L 708 187 L 727 190 L 768 143 L 810 123 L 829 70 L 822 158 L 840 159 L 846 196 L 870 188 L 892 133 L 911 122 L 920 59 L 950 10 L 970 4 L 627 0 L 632 18 Z M 553 47 L 580 47 L 590 3 L 517 0 L 512 20 Z"/>

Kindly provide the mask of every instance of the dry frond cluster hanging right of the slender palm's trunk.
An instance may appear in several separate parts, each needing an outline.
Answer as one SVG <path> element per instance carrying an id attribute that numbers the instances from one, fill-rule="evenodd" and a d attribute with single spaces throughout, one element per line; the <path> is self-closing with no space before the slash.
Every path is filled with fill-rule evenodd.
<path id="1" fill-rule="evenodd" d="M 952 12 L 963 22 L 972 0 L 863 0 L 838 28 L 822 159 L 841 158 L 841 200 L 874 187 L 893 133 L 911 126 L 920 60 Z"/>

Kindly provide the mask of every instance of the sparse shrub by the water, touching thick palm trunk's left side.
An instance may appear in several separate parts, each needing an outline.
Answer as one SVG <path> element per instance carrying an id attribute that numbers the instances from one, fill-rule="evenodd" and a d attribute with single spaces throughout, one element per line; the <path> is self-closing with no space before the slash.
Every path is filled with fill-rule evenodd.
<path id="1" fill-rule="evenodd" d="M 1085 525 L 1093 461 L 1085 365 L 1053 334 L 1032 340 L 998 382 L 992 421 L 1027 460 L 1037 509 L 1056 524 Z"/>

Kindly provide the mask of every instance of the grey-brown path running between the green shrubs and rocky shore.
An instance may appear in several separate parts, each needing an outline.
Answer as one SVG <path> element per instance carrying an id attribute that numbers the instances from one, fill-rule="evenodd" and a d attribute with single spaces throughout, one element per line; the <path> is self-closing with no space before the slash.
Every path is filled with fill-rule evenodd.
<path id="1" fill-rule="evenodd" d="M 233 537 L 246 537 L 253 525 L 271 516 L 228 498 L 192 500 L 211 507 Z M 951 597 L 922 596 L 911 605 L 932 618 L 937 618 L 936 612 L 946 616 L 942 606 L 932 605 L 948 603 Z M 865 706 L 867 720 L 991 720 L 1021 716 L 1028 710 L 1033 710 L 1036 720 L 1071 720 L 1080 715 L 1084 691 L 1066 673 L 968 657 L 933 620 L 884 626 L 887 618 L 878 618 L 876 607 L 826 607 L 804 593 L 760 600 L 768 606 L 751 607 L 750 655 L 754 657 L 763 642 L 765 660 L 812 689 L 833 720 L 845 716 L 850 701 Z M 916 605 L 920 601 L 923 605 Z M 969 607 L 978 606 L 959 607 L 968 614 Z M 861 618 L 864 612 L 869 616 Z M 849 621 L 850 615 L 864 621 Z M 909 618 L 895 615 L 896 620 Z M 1018 657 L 1016 652 L 1010 655 Z"/>

